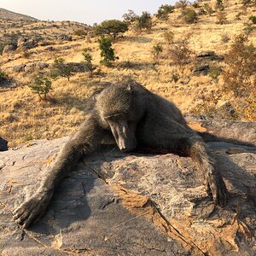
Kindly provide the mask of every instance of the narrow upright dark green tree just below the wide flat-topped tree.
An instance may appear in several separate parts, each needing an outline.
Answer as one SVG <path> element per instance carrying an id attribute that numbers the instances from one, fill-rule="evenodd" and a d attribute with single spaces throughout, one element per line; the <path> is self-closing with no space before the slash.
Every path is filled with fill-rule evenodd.
<path id="1" fill-rule="evenodd" d="M 113 39 L 110 37 L 102 37 L 99 39 L 101 57 L 103 58 L 101 63 L 107 67 L 110 67 L 117 56 L 114 55 L 114 49 L 112 48 Z"/>

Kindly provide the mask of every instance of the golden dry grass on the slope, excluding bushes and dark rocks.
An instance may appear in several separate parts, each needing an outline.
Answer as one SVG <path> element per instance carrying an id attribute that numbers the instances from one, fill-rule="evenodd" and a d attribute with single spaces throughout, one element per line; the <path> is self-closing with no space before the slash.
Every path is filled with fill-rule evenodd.
<path id="1" fill-rule="evenodd" d="M 214 2 L 203 3 L 214 5 Z M 131 76 L 148 90 L 172 100 L 183 113 L 200 113 L 198 109 L 207 109 L 206 105 L 211 103 L 209 99 L 212 98 L 216 108 L 225 102 L 232 102 L 232 93 L 220 93 L 223 83 L 221 78 L 217 82 L 208 75 L 195 75 L 192 64 L 183 68 L 172 65 L 168 57 L 170 45 L 164 37 L 166 31 L 172 31 L 174 41 L 189 38 L 189 48 L 195 55 L 205 50 L 214 50 L 217 55 L 224 55 L 230 49 L 232 40 L 243 31 L 248 17 L 256 13 L 256 7 L 247 8 L 247 11 L 241 13 L 241 19 L 236 20 L 236 15 L 241 12 L 241 3 L 224 1 L 224 6 L 227 23 L 223 25 L 216 24 L 216 13 L 200 15 L 195 24 L 185 24 L 178 18 L 180 9 L 176 9 L 168 20 L 154 17 L 150 32 L 139 33 L 130 29 L 124 37 L 113 42 L 115 54 L 119 56 L 113 67 L 100 64 L 97 38 L 74 34 L 86 28 L 82 24 L 34 20 L 20 21 L 22 27 L 14 27 L 9 25 L 9 20 L 2 20 L 0 26 L 2 30 L 5 27 L 5 33 L 24 34 L 26 37 L 40 35 L 48 44 L 38 44 L 36 48 L 27 50 L 26 55 L 24 52 L 15 52 L 1 56 L 0 67 L 9 74 L 11 82 L 0 87 L 0 136 L 7 139 L 12 147 L 34 138 L 67 136 L 76 131 L 83 121 L 83 108 L 88 96 L 99 86 L 119 81 L 125 76 Z M 59 40 L 61 34 L 71 35 L 73 40 Z M 224 35 L 230 41 L 224 43 Z M 250 40 L 256 44 L 256 32 L 253 32 Z M 163 52 L 159 63 L 154 64 L 152 49 L 156 44 L 162 45 Z M 40 100 L 27 86 L 36 71 L 15 72 L 13 69 L 20 64 L 52 64 L 57 57 L 67 62 L 81 62 L 84 60 L 84 48 L 91 49 L 92 62 L 97 66 L 93 77 L 90 78 L 89 73 L 74 73 L 69 81 L 65 78 L 54 80 L 49 94 L 50 101 Z M 174 81 L 173 75 L 177 75 L 177 81 Z"/>

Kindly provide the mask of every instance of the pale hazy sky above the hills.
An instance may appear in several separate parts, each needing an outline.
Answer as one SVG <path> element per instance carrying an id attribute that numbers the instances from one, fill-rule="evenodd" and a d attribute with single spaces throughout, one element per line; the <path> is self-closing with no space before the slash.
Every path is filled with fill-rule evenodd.
<path id="1" fill-rule="evenodd" d="M 128 9 L 132 9 L 137 15 L 141 15 L 143 11 L 154 14 L 161 4 L 175 2 L 175 0 L 0 0 L 0 8 L 30 15 L 39 20 L 73 20 L 93 25 L 103 20 L 121 20 Z"/>

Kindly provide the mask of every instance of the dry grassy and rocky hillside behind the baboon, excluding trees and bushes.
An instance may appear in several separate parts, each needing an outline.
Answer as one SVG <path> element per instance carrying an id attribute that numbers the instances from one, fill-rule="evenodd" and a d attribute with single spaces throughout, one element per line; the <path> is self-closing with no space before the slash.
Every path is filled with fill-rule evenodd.
<path id="1" fill-rule="evenodd" d="M 214 73 L 209 73 L 209 67 L 224 70 L 227 65 L 224 56 L 235 38 L 254 26 L 249 17 L 255 15 L 256 8 L 250 5 L 244 9 L 240 2 L 224 1 L 225 21 L 219 24 L 219 11 L 208 14 L 204 10 L 206 3 L 214 9 L 215 2 L 201 1 L 197 7 L 189 6 L 198 15 L 192 24 L 181 19 L 182 9 L 174 9 L 167 20 L 154 15 L 150 31 L 138 32 L 130 26 L 122 37 L 113 41 L 119 57 L 113 67 L 101 64 L 93 27 L 72 21 L 42 20 L 20 20 L 13 26 L 12 20 L 0 20 L 0 46 L 10 45 L 10 50 L 0 58 L 0 68 L 9 75 L 8 81 L 0 86 L 1 136 L 16 146 L 33 138 L 69 135 L 84 119 L 86 99 L 97 88 L 127 76 L 175 102 L 184 114 L 255 120 L 255 97 L 240 98 L 222 90 L 222 73 L 216 79 Z M 166 32 L 173 33 L 172 43 L 166 41 Z M 255 35 L 252 30 L 248 37 L 250 44 L 256 45 Z M 170 50 L 181 42 L 189 48 L 191 61 L 179 67 L 173 63 Z M 162 52 L 155 61 L 153 49 L 158 44 Z M 92 77 L 83 72 L 83 49 L 90 49 L 96 66 Z M 53 80 L 51 100 L 42 102 L 27 85 L 38 72 L 49 74 L 56 58 L 71 63 L 76 72 L 69 81 Z"/>

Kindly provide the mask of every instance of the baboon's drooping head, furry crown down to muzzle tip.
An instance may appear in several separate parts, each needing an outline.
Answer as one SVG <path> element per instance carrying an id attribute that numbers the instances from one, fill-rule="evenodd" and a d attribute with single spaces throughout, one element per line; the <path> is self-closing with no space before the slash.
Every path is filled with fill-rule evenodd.
<path id="1" fill-rule="evenodd" d="M 102 127 L 112 131 L 123 152 L 137 147 L 136 126 L 140 119 L 131 85 L 113 84 L 96 96 L 96 110 Z"/>

